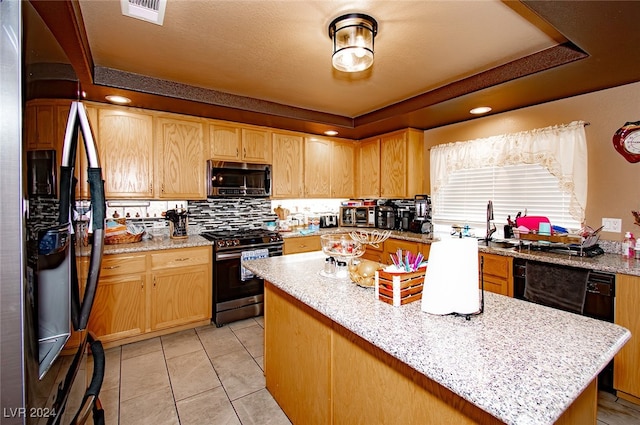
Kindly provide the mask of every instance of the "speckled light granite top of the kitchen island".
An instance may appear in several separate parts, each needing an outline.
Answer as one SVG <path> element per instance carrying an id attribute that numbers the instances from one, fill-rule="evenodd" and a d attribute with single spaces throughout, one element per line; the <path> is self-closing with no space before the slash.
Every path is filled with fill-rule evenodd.
<path id="1" fill-rule="evenodd" d="M 393 307 L 372 288 L 321 277 L 321 252 L 245 267 L 508 424 L 551 424 L 630 338 L 625 328 L 485 292 L 467 321 Z"/>

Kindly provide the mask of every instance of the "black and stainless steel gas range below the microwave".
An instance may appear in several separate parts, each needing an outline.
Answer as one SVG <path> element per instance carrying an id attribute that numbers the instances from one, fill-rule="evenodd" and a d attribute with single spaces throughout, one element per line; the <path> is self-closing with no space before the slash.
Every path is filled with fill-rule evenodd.
<path id="1" fill-rule="evenodd" d="M 264 281 L 242 267 L 253 258 L 282 255 L 282 236 L 260 229 L 204 232 L 213 245 L 213 314 L 220 327 L 264 312 Z"/>

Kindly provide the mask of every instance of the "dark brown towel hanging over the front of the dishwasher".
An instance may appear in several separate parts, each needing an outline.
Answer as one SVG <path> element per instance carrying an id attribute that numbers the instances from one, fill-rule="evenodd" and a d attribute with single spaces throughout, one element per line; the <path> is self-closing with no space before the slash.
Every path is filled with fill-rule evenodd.
<path id="1" fill-rule="evenodd" d="M 589 270 L 527 261 L 524 297 L 534 303 L 582 314 Z"/>

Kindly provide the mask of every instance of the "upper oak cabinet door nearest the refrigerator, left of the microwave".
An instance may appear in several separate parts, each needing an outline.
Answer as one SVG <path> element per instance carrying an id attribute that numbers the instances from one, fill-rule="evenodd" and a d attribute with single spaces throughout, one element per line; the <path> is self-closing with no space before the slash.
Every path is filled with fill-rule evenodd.
<path id="1" fill-rule="evenodd" d="M 98 108 L 100 161 L 107 198 L 153 197 L 153 116 L 132 108 Z"/>

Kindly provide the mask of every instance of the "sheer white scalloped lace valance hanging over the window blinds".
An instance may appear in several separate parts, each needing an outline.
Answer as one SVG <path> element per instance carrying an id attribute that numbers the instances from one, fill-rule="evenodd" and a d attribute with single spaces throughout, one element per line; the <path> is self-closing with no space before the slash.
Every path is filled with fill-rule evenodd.
<path id="1" fill-rule="evenodd" d="M 520 133 L 503 134 L 431 148 L 431 197 L 449 175 L 462 169 L 539 164 L 558 179 L 560 189 L 571 194 L 569 212 L 582 222 L 587 204 L 587 139 L 584 121 Z"/>

